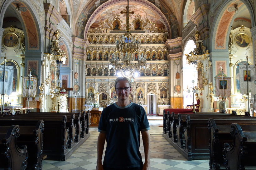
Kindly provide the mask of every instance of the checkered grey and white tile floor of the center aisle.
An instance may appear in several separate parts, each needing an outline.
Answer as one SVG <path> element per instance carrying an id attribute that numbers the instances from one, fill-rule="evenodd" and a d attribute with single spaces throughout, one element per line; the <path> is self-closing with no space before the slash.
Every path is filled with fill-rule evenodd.
<path id="1" fill-rule="evenodd" d="M 151 170 L 208 170 L 209 160 L 187 161 L 167 140 L 162 136 L 162 120 L 150 120 Z M 66 161 L 43 161 L 43 170 L 94 170 L 97 161 L 98 128 L 90 128 L 90 137 Z M 106 144 L 105 144 L 106 145 Z M 140 151 L 144 156 L 141 139 Z M 144 159 L 142 160 L 144 161 Z"/>

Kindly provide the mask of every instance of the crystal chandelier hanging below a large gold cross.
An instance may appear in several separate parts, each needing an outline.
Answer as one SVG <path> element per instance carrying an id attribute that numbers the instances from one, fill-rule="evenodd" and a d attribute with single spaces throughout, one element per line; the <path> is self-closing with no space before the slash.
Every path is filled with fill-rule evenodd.
<path id="1" fill-rule="evenodd" d="M 138 63 L 133 63 L 134 52 L 140 51 L 141 42 L 140 39 L 135 40 L 130 33 L 129 13 L 134 14 L 134 11 L 129 12 L 129 0 L 127 0 L 126 11 L 121 11 L 121 14 L 123 13 L 126 13 L 126 33 L 119 37 L 120 41 L 116 42 L 116 48 L 121 55 L 120 58 L 114 55 L 110 59 L 110 63 L 122 76 L 132 77 L 140 68 L 145 67 L 147 60 L 142 53 L 138 57 Z"/>

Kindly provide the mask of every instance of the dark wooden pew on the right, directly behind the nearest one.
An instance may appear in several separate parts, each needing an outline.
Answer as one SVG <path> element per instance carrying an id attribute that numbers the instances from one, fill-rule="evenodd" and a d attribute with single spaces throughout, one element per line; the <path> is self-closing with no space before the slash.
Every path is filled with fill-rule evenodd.
<path id="1" fill-rule="evenodd" d="M 210 132 L 210 169 L 226 169 L 223 161 L 223 149 L 225 143 L 225 145 L 232 145 L 233 143 L 233 137 L 230 134 L 232 123 L 239 123 L 242 128 L 247 128 L 247 126 L 256 125 L 256 120 L 225 119 L 223 121 L 208 119 L 208 129 Z"/>

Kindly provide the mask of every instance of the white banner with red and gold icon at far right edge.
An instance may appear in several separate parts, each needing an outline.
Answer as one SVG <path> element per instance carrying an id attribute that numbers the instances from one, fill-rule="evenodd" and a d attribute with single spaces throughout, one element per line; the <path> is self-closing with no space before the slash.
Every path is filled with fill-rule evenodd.
<path id="1" fill-rule="evenodd" d="M 248 80 L 248 92 L 251 91 L 251 94 L 256 94 L 256 88 L 254 81 L 256 80 L 255 66 L 248 66 L 248 71 L 246 66 L 239 65 L 239 83 L 240 83 L 240 93 L 247 94 L 247 80 Z"/>

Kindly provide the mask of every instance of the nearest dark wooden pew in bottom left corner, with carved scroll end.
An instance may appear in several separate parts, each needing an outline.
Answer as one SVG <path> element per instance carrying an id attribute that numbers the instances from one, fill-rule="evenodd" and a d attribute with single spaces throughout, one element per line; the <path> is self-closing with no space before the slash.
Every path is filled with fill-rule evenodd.
<path id="1" fill-rule="evenodd" d="M 1 124 L 2 125 L 2 124 Z M 27 146 L 18 147 L 19 126 L 0 126 L 0 169 L 27 168 Z"/>

